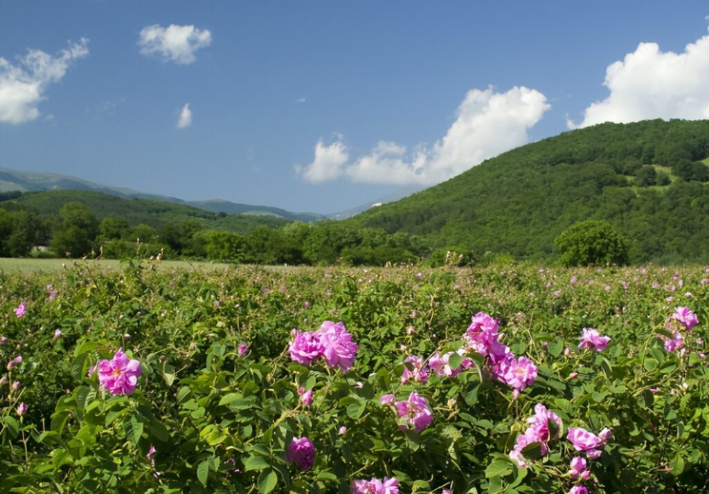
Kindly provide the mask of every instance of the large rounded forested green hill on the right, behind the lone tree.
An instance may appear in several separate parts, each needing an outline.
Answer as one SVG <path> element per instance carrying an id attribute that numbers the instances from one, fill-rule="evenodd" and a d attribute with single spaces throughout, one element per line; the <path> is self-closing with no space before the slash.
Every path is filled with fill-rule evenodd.
<path id="1" fill-rule="evenodd" d="M 605 123 L 518 147 L 348 222 L 438 247 L 547 260 L 554 238 L 606 220 L 632 262 L 709 261 L 709 120 Z"/>

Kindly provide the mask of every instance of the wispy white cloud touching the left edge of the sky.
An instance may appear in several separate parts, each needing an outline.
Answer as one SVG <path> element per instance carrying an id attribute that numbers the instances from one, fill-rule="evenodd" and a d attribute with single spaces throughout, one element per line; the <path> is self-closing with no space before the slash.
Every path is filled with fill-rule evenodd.
<path id="1" fill-rule="evenodd" d="M 64 77 L 72 61 L 89 55 L 87 43 L 89 40 L 82 38 L 55 57 L 42 50 L 28 50 L 27 55 L 18 57 L 18 65 L 0 57 L 0 122 L 18 124 L 37 118 L 37 106 L 46 99 L 48 86 Z"/>

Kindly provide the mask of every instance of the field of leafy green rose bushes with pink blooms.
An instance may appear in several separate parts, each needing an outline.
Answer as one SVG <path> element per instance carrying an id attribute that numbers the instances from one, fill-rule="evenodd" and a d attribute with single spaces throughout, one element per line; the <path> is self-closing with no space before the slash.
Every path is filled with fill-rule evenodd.
<path id="1" fill-rule="evenodd" d="M 0 492 L 702 493 L 709 268 L 0 271 Z"/>

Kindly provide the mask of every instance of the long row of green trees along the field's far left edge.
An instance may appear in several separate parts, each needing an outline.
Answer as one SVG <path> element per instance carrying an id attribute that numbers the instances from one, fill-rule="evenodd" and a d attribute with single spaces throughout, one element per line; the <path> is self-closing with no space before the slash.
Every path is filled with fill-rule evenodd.
<path id="1" fill-rule="evenodd" d="M 106 216 L 99 220 L 78 201 L 57 215 L 40 215 L 13 203 L 0 207 L 0 257 L 123 257 L 210 259 L 248 264 L 384 265 L 430 254 L 420 237 L 327 221 L 257 226 L 250 233 L 204 228 L 197 220 L 168 220 L 160 227 Z"/>

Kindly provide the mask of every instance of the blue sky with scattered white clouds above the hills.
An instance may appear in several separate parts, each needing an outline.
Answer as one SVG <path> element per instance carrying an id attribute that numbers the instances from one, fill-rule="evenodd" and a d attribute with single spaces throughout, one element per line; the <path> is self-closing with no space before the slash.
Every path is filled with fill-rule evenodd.
<path id="1" fill-rule="evenodd" d="M 709 118 L 707 16 L 706 0 L 3 1 L 0 167 L 333 213 L 569 128 Z"/>

